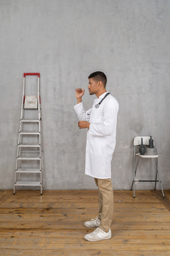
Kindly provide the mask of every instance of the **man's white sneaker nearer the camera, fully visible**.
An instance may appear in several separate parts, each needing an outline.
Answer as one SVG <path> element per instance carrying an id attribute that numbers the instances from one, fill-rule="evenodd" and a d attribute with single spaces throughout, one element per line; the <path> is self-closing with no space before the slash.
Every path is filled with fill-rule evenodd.
<path id="1" fill-rule="evenodd" d="M 84 236 L 84 239 L 90 242 L 96 242 L 104 239 L 112 238 L 112 231 L 109 229 L 109 232 L 104 232 L 102 229 L 97 228 L 93 232 Z"/>

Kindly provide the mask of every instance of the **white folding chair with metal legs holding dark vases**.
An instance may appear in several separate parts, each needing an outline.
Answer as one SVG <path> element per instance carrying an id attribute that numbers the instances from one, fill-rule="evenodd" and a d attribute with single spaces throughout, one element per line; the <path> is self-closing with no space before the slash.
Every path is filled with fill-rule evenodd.
<path id="1" fill-rule="evenodd" d="M 156 190 L 156 183 L 159 182 L 161 185 L 162 196 L 165 198 L 164 190 L 162 188 L 162 181 L 161 181 L 161 177 L 160 177 L 160 173 L 159 173 L 159 169 L 158 169 L 158 156 L 159 155 L 147 155 L 146 153 L 145 153 L 145 155 L 140 155 L 140 153 L 136 153 L 136 146 L 138 146 L 137 148 L 139 148 L 142 138 L 143 138 L 143 145 L 149 145 L 150 136 L 136 136 L 133 140 L 133 150 L 134 150 L 134 152 L 133 152 L 133 172 L 134 173 L 133 173 L 133 182 L 132 182 L 132 187 L 131 187 L 131 190 L 133 189 L 133 198 L 135 198 L 135 183 L 138 183 L 138 182 L 155 182 L 155 188 L 154 188 L 155 190 Z M 155 145 L 154 140 L 153 140 L 153 145 Z M 142 160 L 148 159 L 148 158 L 155 159 L 155 164 L 156 164 L 155 180 L 136 180 L 136 172 L 137 172 L 139 160 L 140 159 L 142 159 Z M 159 180 L 157 180 L 157 177 L 159 178 Z"/>

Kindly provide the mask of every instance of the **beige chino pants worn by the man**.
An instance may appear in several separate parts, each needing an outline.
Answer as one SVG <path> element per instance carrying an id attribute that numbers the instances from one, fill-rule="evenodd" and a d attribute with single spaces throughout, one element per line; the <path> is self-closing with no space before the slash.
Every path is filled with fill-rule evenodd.
<path id="1" fill-rule="evenodd" d="M 99 189 L 99 219 L 100 226 L 104 232 L 109 232 L 113 218 L 113 188 L 112 180 L 94 178 Z"/>

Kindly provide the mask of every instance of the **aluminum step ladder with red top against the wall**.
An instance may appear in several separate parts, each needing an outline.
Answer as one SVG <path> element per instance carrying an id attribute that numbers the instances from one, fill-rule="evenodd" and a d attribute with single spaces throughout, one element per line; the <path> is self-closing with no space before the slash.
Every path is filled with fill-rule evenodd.
<path id="1" fill-rule="evenodd" d="M 25 95 L 26 76 L 38 77 L 37 95 Z M 42 194 L 42 180 L 40 73 L 24 73 L 14 194 L 18 187 L 39 188 Z"/>

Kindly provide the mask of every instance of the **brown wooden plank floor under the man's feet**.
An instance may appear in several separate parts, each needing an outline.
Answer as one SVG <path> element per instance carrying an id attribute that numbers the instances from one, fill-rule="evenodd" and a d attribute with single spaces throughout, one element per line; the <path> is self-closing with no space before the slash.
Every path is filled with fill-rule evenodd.
<path id="1" fill-rule="evenodd" d="M 114 191 L 112 239 L 88 242 L 97 191 L 0 191 L 0 255 L 169 256 L 170 191 Z"/>

